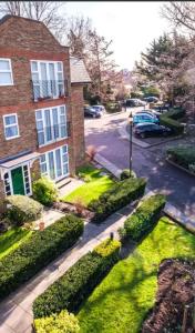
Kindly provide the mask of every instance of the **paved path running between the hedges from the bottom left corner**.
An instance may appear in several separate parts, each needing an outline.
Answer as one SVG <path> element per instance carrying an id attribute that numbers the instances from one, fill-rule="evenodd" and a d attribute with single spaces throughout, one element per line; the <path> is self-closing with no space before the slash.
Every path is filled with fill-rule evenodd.
<path id="1" fill-rule="evenodd" d="M 63 275 L 82 255 L 110 236 L 111 232 L 114 232 L 117 238 L 117 229 L 123 225 L 132 210 L 133 206 L 129 205 L 111 215 L 101 225 L 93 223 L 85 224 L 83 238 L 72 249 L 63 253 L 37 274 L 35 278 L 31 279 L 21 289 L 1 302 L 0 333 L 32 332 L 32 303 L 37 296 Z"/>

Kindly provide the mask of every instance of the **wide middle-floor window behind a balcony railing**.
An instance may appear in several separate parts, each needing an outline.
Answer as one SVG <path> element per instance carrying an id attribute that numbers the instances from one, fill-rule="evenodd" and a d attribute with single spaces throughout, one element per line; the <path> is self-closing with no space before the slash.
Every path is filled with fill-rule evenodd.
<path id="1" fill-rule="evenodd" d="M 35 111 L 39 147 L 68 138 L 65 105 Z"/>

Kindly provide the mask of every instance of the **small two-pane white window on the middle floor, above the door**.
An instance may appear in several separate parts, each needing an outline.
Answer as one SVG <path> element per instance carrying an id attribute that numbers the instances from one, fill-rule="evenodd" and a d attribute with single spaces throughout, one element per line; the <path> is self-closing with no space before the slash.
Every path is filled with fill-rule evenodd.
<path id="1" fill-rule="evenodd" d="M 3 115 L 6 140 L 19 137 L 19 124 L 17 113 Z"/>

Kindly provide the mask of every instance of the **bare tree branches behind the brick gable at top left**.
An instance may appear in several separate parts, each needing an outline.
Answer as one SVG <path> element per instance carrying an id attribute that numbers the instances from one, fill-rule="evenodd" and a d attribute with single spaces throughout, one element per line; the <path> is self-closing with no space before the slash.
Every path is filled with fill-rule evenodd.
<path id="1" fill-rule="evenodd" d="M 13 14 L 42 21 L 59 39 L 62 40 L 65 19 L 60 14 L 62 1 L 2 1 L 0 14 Z"/>

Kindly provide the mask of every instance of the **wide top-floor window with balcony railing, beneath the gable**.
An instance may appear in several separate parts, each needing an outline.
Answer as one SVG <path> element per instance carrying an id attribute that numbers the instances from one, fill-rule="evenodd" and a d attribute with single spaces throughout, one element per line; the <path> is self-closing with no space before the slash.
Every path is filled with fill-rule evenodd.
<path id="1" fill-rule="evenodd" d="M 59 98 L 64 94 L 62 61 L 31 60 L 34 101 L 39 98 Z"/>

